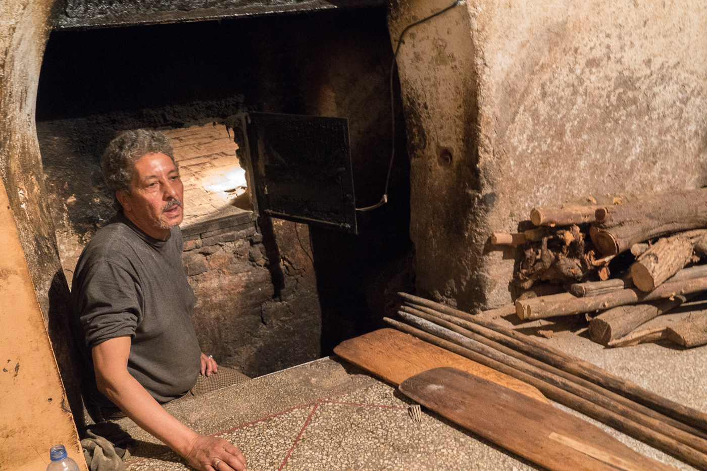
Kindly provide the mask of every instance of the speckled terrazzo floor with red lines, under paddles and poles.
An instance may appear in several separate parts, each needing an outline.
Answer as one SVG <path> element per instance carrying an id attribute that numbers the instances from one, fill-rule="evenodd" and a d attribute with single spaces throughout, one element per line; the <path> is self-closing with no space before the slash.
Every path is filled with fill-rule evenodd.
<path id="1" fill-rule="evenodd" d="M 577 333 L 558 332 L 547 343 L 673 400 L 705 409 L 706 348 L 679 351 L 650 344 L 607 350 Z M 165 408 L 200 434 L 234 443 L 251 471 L 543 469 L 424 408 L 421 423 L 416 423 L 409 415 L 409 402 L 391 385 L 331 357 Z M 644 455 L 677 470 L 693 469 L 583 418 Z M 129 419 L 121 424 L 140 443 L 127 462 L 128 471 L 192 470 Z"/>

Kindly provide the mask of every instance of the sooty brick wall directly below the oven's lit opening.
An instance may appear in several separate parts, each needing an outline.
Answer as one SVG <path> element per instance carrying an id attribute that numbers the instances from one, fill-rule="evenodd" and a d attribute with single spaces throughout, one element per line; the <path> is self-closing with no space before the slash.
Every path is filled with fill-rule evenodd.
<path id="1" fill-rule="evenodd" d="M 201 349 L 249 376 L 320 354 L 322 318 L 307 225 L 271 222 L 265 238 L 253 223 L 185 236 L 182 258 L 197 296 Z"/>

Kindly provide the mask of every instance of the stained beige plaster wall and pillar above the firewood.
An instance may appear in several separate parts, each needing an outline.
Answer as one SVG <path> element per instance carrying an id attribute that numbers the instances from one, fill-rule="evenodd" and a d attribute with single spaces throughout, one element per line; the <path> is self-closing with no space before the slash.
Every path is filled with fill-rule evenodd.
<path id="1" fill-rule="evenodd" d="M 450 4 L 399 2 L 391 36 Z M 397 63 L 421 293 L 508 303 L 514 255 L 487 238 L 532 207 L 707 182 L 703 2 L 466 1 Z"/>

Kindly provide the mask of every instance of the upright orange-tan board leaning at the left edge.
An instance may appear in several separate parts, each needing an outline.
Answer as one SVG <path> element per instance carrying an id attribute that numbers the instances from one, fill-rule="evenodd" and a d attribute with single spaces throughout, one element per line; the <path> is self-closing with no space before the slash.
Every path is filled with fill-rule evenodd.
<path id="1" fill-rule="evenodd" d="M 44 471 L 61 444 L 88 471 L 2 180 L 0 233 L 0 470 Z"/>

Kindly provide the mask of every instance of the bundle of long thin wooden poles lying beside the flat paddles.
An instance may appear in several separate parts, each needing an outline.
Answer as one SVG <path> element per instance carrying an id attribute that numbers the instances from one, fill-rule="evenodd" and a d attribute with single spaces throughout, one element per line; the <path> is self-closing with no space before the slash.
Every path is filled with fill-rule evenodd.
<path id="1" fill-rule="evenodd" d="M 519 332 L 476 320 L 433 301 L 410 295 L 403 297 L 407 306 L 399 314 L 415 327 L 386 319 L 399 330 L 530 383 L 551 400 L 685 463 L 701 469 L 706 467 L 705 414 L 642 390 Z M 462 316 L 457 318 L 454 313 Z"/>

